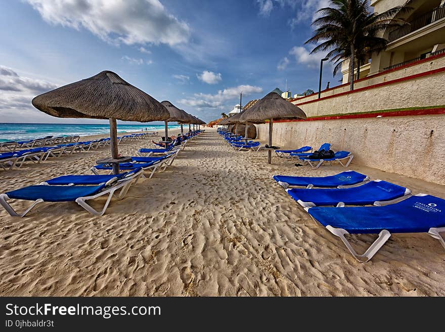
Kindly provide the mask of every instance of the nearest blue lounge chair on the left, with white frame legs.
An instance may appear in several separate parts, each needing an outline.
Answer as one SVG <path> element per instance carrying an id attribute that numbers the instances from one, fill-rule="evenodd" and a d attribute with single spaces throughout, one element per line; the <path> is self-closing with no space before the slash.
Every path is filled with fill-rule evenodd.
<path id="1" fill-rule="evenodd" d="M 115 179 L 98 185 L 30 185 L 0 195 L 0 204 L 11 216 L 17 217 L 25 216 L 33 207 L 41 202 L 76 202 L 86 211 L 94 215 L 103 215 L 114 193 L 118 189 L 122 189 L 119 196 L 123 197 L 135 179 L 135 177 L 124 178 L 120 181 Z M 108 195 L 108 199 L 101 211 L 95 210 L 86 203 L 88 200 L 93 200 L 104 195 Z M 33 203 L 23 213 L 17 213 L 7 202 L 9 199 L 33 201 Z"/>

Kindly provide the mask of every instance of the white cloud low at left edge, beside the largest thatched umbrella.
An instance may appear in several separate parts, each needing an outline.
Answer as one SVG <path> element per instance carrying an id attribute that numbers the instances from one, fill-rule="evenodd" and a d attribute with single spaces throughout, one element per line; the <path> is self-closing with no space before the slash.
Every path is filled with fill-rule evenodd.
<path id="1" fill-rule="evenodd" d="M 37 94 L 56 87 L 57 85 L 51 82 L 23 77 L 11 68 L 0 66 L 0 110 L 2 112 L 6 110 L 22 112 L 26 109 L 34 109 L 31 100 Z M 16 120 L 19 119 L 16 118 Z"/>

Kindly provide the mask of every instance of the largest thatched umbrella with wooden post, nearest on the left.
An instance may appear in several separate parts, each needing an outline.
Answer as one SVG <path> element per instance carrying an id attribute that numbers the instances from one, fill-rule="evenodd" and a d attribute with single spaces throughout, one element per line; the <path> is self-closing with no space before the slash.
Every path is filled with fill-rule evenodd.
<path id="1" fill-rule="evenodd" d="M 42 93 L 32 105 L 59 118 L 109 119 L 113 159 L 118 158 L 116 119 L 150 122 L 169 117 L 161 103 L 112 71 Z M 113 172 L 119 172 L 118 163 L 113 164 Z"/>

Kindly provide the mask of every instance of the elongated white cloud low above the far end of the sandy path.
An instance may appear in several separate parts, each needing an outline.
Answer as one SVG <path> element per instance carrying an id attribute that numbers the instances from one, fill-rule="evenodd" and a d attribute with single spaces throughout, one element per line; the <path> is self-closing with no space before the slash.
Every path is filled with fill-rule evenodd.
<path id="1" fill-rule="evenodd" d="M 202 108 L 224 109 L 227 108 L 224 103 L 239 98 L 241 92 L 243 92 L 243 96 L 249 96 L 252 93 L 261 93 L 262 88 L 253 85 L 239 85 L 219 90 L 215 94 L 195 93 L 193 98 L 182 99 L 178 103 L 197 108 L 198 110 Z"/>

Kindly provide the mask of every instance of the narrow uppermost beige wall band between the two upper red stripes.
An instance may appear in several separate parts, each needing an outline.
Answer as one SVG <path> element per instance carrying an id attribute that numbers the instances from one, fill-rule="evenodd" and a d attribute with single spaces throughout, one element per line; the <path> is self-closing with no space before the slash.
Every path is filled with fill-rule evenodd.
<path id="1" fill-rule="evenodd" d="M 372 63 L 371 63 L 371 66 L 372 66 Z M 405 67 L 405 68 L 402 68 L 399 70 L 391 71 L 386 74 L 382 74 L 382 75 L 378 75 L 378 76 L 374 76 L 374 77 L 371 76 L 367 79 L 355 82 L 354 88 L 357 89 L 357 88 L 361 88 L 361 87 L 371 86 L 374 84 L 387 82 L 387 81 L 390 81 L 393 79 L 403 78 L 403 77 L 423 73 L 423 72 L 426 72 L 429 70 L 434 70 L 434 69 L 442 68 L 442 67 L 445 67 L 445 56 L 435 58 L 430 61 L 421 62 L 419 64 Z M 371 72 L 372 72 L 372 68 L 371 68 Z M 335 87 L 335 88 L 332 88 L 327 91 L 322 91 L 321 97 L 323 98 L 323 97 L 327 97 L 327 96 L 333 96 L 334 94 L 338 94 L 338 93 L 346 92 L 346 91 L 349 91 L 348 84 L 345 86 Z M 305 103 L 307 101 L 316 100 L 316 99 L 318 99 L 318 94 L 314 94 L 313 96 L 310 96 L 310 97 L 298 99 L 298 100 L 294 101 L 293 103 L 298 105 L 300 103 Z"/>

